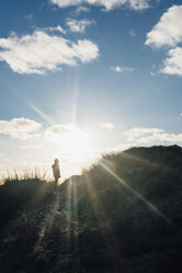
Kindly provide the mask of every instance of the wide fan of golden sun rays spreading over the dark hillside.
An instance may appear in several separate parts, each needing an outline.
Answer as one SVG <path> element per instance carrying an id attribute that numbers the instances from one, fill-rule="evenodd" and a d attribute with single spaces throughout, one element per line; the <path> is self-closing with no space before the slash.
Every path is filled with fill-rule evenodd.
<path id="1" fill-rule="evenodd" d="M 145 159 L 140 156 L 134 157 L 135 161 L 144 164 Z M 132 160 L 129 156 L 127 159 Z M 146 162 L 150 164 L 149 160 Z M 153 168 L 160 167 L 158 164 L 151 163 L 151 165 Z M 162 172 L 164 170 L 163 166 Z M 128 229 L 128 232 L 132 232 L 130 236 L 134 236 L 137 225 L 143 226 L 143 229 L 145 229 L 144 221 L 140 218 L 141 215 L 146 220 L 150 221 L 149 236 L 151 237 L 156 232 L 156 230 L 152 231 L 155 227 L 153 222 L 156 220 L 160 223 L 159 219 L 161 219 L 164 229 L 166 227 L 171 227 L 172 230 L 179 233 L 182 232 L 182 229 L 172 221 L 171 217 L 167 216 L 168 212 L 166 215 L 161 211 L 158 206 L 149 201 L 127 179 L 122 178 L 123 176 L 118 173 L 115 161 L 103 156 L 95 166 L 95 170 L 93 168 L 93 173 L 91 168 L 83 172 L 82 176 L 72 176 L 65 184 L 60 185 L 57 195 L 49 201 L 49 209 L 42 222 L 38 239 L 34 248 L 35 252 L 41 251 L 44 242 L 48 240 L 47 238 L 52 238 L 55 225 L 57 225 L 56 228 L 59 230 L 56 233 L 57 240 L 60 243 L 65 243 L 66 255 L 68 253 L 70 255 L 77 255 L 78 261 L 81 259 L 80 248 L 82 248 L 80 247 L 80 238 L 88 230 L 90 233 L 87 233 L 87 236 L 91 234 L 91 238 L 92 236 L 95 236 L 95 238 L 99 236 L 102 248 L 107 249 L 109 253 L 123 256 L 126 242 L 123 238 L 117 240 L 117 232 L 125 232 L 125 229 Z M 138 200 L 141 200 L 141 203 L 138 203 Z M 140 206 L 140 204 L 143 205 Z M 120 219 L 114 215 L 117 212 L 117 206 L 121 211 Z M 112 211 L 112 207 L 115 208 L 114 212 Z M 148 214 L 147 217 L 146 214 Z M 136 219 L 137 225 L 135 222 Z M 55 223 L 56 221 L 57 223 Z M 121 228 L 120 225 L 123 226 L 122 231 L 118 230 Z M 133 225 L 134 227 L 132 227 Z M 84 248 L 89 249 L 89 243 L 92 244 L 92 241 L 90 242 L 88 239 L 87 242 L 84 242 Z M 135 249 L 135 245 L 133 248 Z"/>

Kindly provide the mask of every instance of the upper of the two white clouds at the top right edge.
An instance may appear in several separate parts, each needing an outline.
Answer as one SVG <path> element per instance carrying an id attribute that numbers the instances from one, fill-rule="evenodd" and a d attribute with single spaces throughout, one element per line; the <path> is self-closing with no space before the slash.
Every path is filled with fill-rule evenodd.
<path id="1" fill-rule="evenodd" d="M 161 47 L 182 43 L 182 6 L 173 6 L 163 13 L 159 22 L 147 33 L 146 44 Z"/>

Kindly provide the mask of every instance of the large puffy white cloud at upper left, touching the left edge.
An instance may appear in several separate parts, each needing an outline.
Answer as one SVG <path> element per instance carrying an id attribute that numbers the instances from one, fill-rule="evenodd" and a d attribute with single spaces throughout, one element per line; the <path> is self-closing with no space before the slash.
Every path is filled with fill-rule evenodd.
<path id="1" fill-rule="evenodd" d="M 89 40 L 73 43 L 58 35 L 35 31 L 32 35 L 0 39 L 0 61 L 19 74 L 39 74 L 61 69 L 60 65 L 76 66 L 99 56 L 99 47 Z"/>

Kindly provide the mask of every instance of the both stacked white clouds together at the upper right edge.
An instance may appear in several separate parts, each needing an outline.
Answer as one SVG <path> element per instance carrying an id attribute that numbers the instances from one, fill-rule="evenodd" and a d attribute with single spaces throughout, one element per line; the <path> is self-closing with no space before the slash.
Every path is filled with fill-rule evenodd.
<path id="1" fill-rule="evenodd" d="M 173 6 L 163 13 L 159 22 L 147 33 L 146 45 L 173 47 L 168 51 L 160 73 L 182 76 L 182 6 Z"/>

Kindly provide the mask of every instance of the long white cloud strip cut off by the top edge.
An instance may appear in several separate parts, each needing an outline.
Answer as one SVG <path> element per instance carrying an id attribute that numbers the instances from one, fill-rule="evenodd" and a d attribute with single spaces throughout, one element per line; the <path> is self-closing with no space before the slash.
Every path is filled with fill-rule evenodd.
<path id="1" fill-rule="evenodd" d="M 79 6 L 83 3 L 104 7 L 105 10 L 112 10 L 122 6 L 126 6 L 134 10 L 144 10 L 149 8 L 149 0 L 49 0 L 59 8 L 70 6 Z"/>

